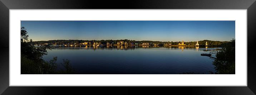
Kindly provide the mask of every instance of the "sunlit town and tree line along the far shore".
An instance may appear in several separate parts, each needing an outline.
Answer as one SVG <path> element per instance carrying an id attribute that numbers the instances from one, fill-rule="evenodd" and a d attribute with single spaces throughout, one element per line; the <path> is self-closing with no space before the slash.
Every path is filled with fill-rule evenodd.
<path id="1" fill-rule="evenodd" d="M 220 46 L 223 43 L 229 41 L 135 41 L 135 40 L 49 40 L 49 41 L 31 41 L 31 45 L 42 46 L 49 45 L 51 47 L 77 47 L 77 46 L 135 46 L 135 45 L 146 45 L 146 46 Z"/>

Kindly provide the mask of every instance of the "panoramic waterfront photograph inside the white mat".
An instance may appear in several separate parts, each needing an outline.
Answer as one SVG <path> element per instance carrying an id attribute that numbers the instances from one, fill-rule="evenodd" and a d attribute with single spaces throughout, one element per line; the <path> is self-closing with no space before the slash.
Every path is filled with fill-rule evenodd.
<path id="1" fill-rule="evenodd" d="M 21 21 L 21 74 L 235 74 L 235 21 Z"/>

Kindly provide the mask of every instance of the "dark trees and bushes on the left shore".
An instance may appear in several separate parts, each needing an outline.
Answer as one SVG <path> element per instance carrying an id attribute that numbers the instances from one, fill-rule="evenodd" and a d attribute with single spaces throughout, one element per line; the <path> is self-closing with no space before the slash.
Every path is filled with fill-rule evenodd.
<path id="1" fill-rule="evenodd" d="M 64 69 L 57 68 L 57 57 L 45 61 L 42 57 L 47 55 L 48 46 L 35 47 L 28 42 L 27 31 L 21 27 L 21 74 L 74 74 L 68 59 L 63 59 L 61 65 Z"/>

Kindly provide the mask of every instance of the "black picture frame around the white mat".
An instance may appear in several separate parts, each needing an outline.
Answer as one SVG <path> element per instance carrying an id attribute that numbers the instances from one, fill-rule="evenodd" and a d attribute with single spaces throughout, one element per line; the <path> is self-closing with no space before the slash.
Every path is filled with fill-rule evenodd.
<path id="1" fill-rule="evenodd" d="M 188 87 L 18 87 L 9 86 L 9 9 L 247 9 L 247 86 Z M 256 94 L 256 64 L 253 42 L 256 36 L 255 0 L 0 0 L 0 94 Z M 246 32 L 246 31 L 245 31 Z M 241 63 L 238 63 L 241 64 Z M 138 93 L 136 93 L 138 94 Z"/>

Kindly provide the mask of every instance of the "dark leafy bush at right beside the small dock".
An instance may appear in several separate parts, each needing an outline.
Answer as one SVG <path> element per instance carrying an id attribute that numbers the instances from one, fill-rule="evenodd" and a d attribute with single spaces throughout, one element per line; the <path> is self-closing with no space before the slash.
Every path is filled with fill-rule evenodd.
<path id="1" fill-rule="evenodd" d="M 235 74 L 235 39 L 224 44 L 216 57 L 213 61 L 216 74 Z"/>

